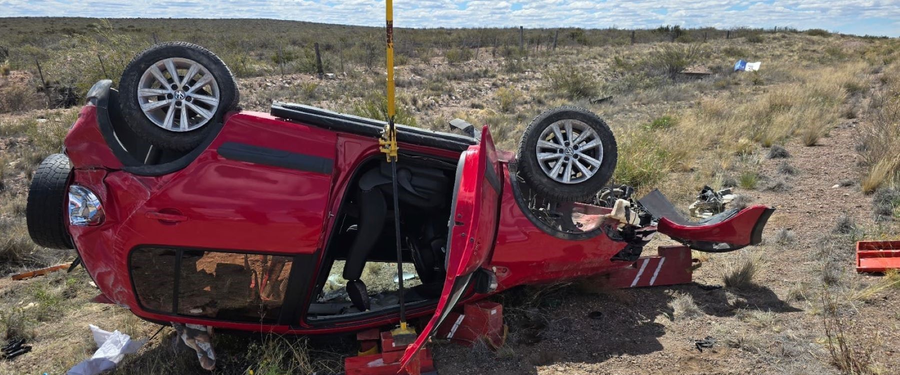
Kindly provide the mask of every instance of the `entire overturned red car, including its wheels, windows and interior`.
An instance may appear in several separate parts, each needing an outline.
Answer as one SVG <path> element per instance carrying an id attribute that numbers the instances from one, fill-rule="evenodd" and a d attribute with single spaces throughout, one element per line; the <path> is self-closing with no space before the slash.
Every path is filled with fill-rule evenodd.
<path id="1" fill-rule="evenodd" d="M 394 191 L 382 121 L 237 104 L 206 49 L 144 51 L 119 90 L 94 85 L 63 152 L 40 165 L 31 237 L 75 249 L 98 300 L 138 317 L 286 334 L 397 323 L 401 280 L 374 265 L 401 262 L 408 315 L 432 317 L 424 341 L 458 302 L 518 285 L 617 272 L 636 275 L 621 286 L 654 285 L 664 259 L 645 269 L 642 257 L 654 233 L 732 251 L 758 244 L 772 212 L 691 221 L 659 192 L 605 187 L 615 138 L 574 107 L 538 116 L 517 153 L 496 149 L 488 127 L 399 126 Z"/>

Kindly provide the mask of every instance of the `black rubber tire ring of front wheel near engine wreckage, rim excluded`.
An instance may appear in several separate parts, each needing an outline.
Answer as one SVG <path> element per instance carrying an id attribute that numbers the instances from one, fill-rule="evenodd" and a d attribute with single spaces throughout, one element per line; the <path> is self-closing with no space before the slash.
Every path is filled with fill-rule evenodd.
<path id="1" fill-rule="evenodd" d="M 603 160 L 599 171 L 581 183 L 558 183 L 547 176 L 537 162 L 535 148 L 541 132 L 551 124 L 560 120 L 582 121 L 594 131 L 603 144 Z M 539 114 L 528 124 L 518 144 L 518 172 L 525 178 L 529 187 L 540 196 L 552 201 L 587 201 L 599 192 L 616 171 L 618 148 L 616 137 L 607 123 L 599 116 L 581 107 L 565 105 L 547 110 Z"/>

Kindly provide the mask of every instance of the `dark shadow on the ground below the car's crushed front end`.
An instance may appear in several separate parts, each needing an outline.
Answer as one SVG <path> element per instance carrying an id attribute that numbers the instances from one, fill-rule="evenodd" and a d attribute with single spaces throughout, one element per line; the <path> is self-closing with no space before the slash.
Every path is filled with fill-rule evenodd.
<path id="1" fill-rule="evenodd" d="M 677 319 L 671 302 L 679 295 L 690 296 L 702 311 L 693 318 L 695 323 L 704 317 L 733 317 L 742 311 L 801 311 L 779 299 L 768 287 L 715 287 L 689 283 L 598 293 L 572 284 L 550 293 L 537 288 L 513 290 L 509 295 L 496 297 L 504 304 L 505 322 L 509 325 L 506 346 L 491 353 L 483 345 L 468 348 L 438 344 L 437 367 L 442 374 L 536 374 L 541 366 L 576 371 L 611 358 L 659 352 L 663 350 L 660 338 L 667 332 L 664 321 Z M 535 296 L 536 293 L 545 295 Z M 523 304 L 523 298 L 531 302 Z M 699 327 L 692 338 L 711 335 L 708 325 L 697 326 L 704 327 Z M 717 339 L 722 342 L 727 337 Z M 695 350 L 691 341 L 686 340 L 684 347 Z"/>

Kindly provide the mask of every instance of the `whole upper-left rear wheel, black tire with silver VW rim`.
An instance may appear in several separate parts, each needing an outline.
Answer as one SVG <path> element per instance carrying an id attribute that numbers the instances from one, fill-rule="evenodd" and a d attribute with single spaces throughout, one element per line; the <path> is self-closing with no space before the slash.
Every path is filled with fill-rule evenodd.
<path id="1" fill-rule="evenodd" d="M 197 147 L 211 124 L 221 121 L 239 99 L 225 63 L 184 41 L 144 49 L 125 67 L 119 89 L 121 113 L 130 129 L 149 144 L 174 151 Z"/>

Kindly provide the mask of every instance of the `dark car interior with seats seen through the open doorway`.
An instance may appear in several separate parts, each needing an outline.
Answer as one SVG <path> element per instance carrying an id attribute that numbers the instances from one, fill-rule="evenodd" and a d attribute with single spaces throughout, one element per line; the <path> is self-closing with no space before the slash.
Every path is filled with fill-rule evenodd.
<path id="1" fill-rule="evenodd" d="M 443 288 L 447 220 L 455 163 L 407 155 L 397 165 L 404 302 L 436 299 Z M 356 171 L 326 246 L 311 301 L 311 319 L 344 316 L 398 304 L 391 166 L 374 157 Z"/>

